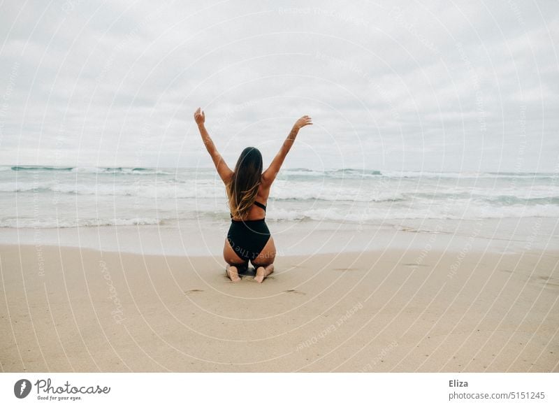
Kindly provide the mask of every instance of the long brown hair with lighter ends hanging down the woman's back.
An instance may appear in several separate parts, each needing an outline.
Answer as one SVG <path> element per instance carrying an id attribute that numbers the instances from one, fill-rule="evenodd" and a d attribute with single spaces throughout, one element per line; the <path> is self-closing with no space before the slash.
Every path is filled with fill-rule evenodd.
<path id="1" fill-rule="evenodd" d="M 256 201 L 262 177 L 262 155 L 258 148 L 242 150 L 235 165 L 231 182 L 227 185 L 227 195 L 231 215 L 242 219 L 248 215 Z"/>

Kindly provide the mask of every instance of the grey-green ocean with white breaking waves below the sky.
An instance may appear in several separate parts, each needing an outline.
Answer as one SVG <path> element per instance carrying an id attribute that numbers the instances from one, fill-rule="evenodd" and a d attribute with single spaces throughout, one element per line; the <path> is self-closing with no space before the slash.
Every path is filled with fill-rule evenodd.
<path id="1" fill-rule="evenodd" d="M 0 167 L 0 227 L 228 222 L 215 169 Z M 557 173 L 282 169 L 268 222 L 559 217 Z"/>

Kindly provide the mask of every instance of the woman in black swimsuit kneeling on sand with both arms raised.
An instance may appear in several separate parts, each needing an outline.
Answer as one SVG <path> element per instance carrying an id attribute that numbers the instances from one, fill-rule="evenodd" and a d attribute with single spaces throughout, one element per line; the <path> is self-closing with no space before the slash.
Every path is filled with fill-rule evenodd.
<path id="1" fill-rule="evenodd" d="M 270 187 L 299 130 L 307 124 L 312 124 L 311 118 L 303 116 L 295 122 L 272 164 L 263 172 L 262 155 L 255 147 L 242 150 L 235 171 L 231 171 L 205 129 L 203 110 L 198 108 L 194 112 L 194 120 L 198 124 L 202 141 L 212 157 L 215 169 L 226 186 L 231 209 L 231 227 L 223 248 L 227 276 L 233 282 L 240 281 L 240 269 L 247 269 L 251 262 L 256 269 L 254 280 L 262 283 L 264 278 L 274 271 L 274 239 L 270 236 L 265 220 Z"/>

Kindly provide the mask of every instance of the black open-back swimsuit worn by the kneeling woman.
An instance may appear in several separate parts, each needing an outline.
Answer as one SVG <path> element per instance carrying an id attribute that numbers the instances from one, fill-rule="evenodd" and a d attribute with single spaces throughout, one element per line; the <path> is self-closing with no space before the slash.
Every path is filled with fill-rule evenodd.
<path id="1" fill-rule="evenodd" d="M 266 205 L 256 201 L 254 205 L 259 206 L 266 213 Z M 266 217 L 258 220 L 233 220 L 231 215 L 227 240 L 235 253 L 245 262 L 249 260 L 254 262 L 269 239 L 270 230 L 266 225 Z"/>

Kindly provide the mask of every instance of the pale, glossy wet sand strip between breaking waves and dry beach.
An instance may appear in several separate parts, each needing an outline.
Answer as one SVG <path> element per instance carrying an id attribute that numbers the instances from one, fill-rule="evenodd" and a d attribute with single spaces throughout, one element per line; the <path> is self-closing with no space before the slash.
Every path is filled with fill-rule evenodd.
<path id="1" fill-rule="evenodd" d="M 0 228 L 0 245 L 61 245 L 149 255 L 221 255 L 229 223 L 68 228 Z M 335 254 L 399 248 L 520 253 L 559 249 L 559 219 L 392 219 L 386 222 L 268 222 L 279 255 Z M 196 238 L 192 238 L 196 236 Z"/>

